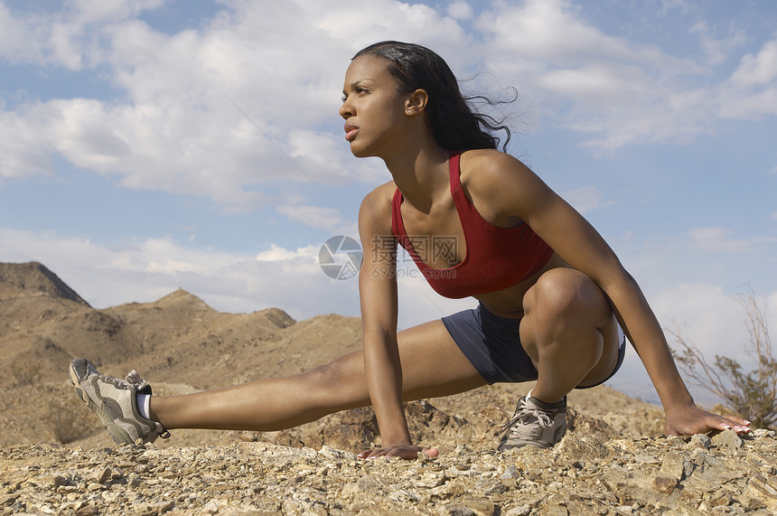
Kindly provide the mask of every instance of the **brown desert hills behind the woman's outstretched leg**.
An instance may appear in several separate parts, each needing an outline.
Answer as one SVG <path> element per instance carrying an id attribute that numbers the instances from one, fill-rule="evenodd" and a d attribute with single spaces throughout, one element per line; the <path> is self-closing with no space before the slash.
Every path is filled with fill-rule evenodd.
<path id="1" fill-rule="evenodd" d="M 40 264 L 0 271 L 0 445 L 104 437 L 65 387 L 73 358 L 115 376 L 136 369 L 157 391 L 181 392 L 294 374 L 360 348 L 354 318 L 224 314 L 183 290 L 97 310 Z M 65 420 L 69 413 L 88 423 Z"/>

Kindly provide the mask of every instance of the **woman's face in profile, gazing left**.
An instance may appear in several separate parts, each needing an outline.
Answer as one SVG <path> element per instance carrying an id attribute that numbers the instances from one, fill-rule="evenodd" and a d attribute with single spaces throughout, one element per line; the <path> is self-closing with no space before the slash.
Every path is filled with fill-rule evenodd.
<path id="1" fill-rule="evenodd" d="M 406 123 L 406 96 L 382 59 L 362 55 L 345 72 L 340 116 L 345 118 L 345 139 L 357 157 L 385 157 L 401 148 Z"/>

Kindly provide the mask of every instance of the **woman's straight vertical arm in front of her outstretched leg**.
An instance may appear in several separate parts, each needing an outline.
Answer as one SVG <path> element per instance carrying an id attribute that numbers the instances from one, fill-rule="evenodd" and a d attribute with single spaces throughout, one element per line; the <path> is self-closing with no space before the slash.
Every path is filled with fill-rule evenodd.
<path id="1" fill-rule="evenodd" d="M 360 453 L 360 458 L 367 459 L 381 455 L 415 459 L 418 452 L 426 451 L 413 446 L 402 399 L 397 343 L 397 240 L 391 234 L 391 194 L 393 188 L 379 187 L 365 197 L 359 212 L 364 373 L 383 445 Z"/>

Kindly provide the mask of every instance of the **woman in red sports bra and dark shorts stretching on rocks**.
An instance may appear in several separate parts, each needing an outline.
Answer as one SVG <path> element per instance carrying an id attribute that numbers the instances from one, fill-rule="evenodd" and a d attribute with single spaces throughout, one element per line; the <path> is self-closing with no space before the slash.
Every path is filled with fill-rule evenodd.
<path id="1" fill-rule="evenodd" d="M 621 327 L 658 390 L 666 435 L 749 431 L 743 419 L 694 405 L 660 324 L 612 249 L 529 168 L 496 150 L 492 133 L 504 127 L 471 111 L 434 52 L 380 42 L 357 53 L 340 115 L 351 153 L 382 158 L 393 177 L 360 208 L 371 257 L 359 279 L 363 350 L 292 377 L 173 397 L 73 361 L 77 392 L 117 442 L 153 440 L 167 428 L 278 430 L 371 403 L 382 447 L 361 458 L 436 456 L 413 444 L 404 400 L 537 380 L 500 449 L 553 446 L 566 431 L 566 394 L 620 366 Z M 377 252 L 387 239 L 408 250 L 437 292 L 474 296 L 478 308 L 398 333 L 396 253 Z M 424 252 L 418 244 L 430 239 L 454 245 Z"/>

